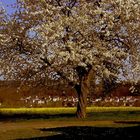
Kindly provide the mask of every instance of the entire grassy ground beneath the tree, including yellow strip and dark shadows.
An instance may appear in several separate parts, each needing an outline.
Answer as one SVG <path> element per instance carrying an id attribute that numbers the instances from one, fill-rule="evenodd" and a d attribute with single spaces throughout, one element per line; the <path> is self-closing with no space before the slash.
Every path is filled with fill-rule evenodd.
<path id="1" fill-rule="evenodd" d="M 88 107 L 78 120 L 76 108 L 1 108 L 0 139 L 135 139 L 140 107 Z"/>

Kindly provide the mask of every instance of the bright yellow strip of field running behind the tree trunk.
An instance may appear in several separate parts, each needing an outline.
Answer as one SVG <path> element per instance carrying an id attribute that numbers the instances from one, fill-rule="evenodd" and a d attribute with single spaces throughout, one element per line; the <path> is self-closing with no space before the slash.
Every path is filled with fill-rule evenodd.
<path id="1" fill-rule="evenodd" d="M 140 111 L 140 107 L 87 107 L 87 113 L 93 112 L 115 112 L 115 111 Z M 58 107 L 58 108 L 1 108 L 0 114 L 45 114 L 45 115 L 59 115 L 59 114 L 74 114 L 75 107 Z"/>

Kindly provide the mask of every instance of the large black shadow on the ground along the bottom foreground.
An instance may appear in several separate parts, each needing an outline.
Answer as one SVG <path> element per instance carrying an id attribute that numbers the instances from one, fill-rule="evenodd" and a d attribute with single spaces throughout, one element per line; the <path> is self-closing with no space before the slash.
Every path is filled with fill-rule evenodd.
<path id="1" fill-rule="evenodd" d="M 30 138 L 28 140 L 137 140 L 139 139 L 140 126 L 133 127 L 88 127 L 69 126 L 59 128 L 43 128 L 45 132 L 56 132 L 56 135 Z"/>

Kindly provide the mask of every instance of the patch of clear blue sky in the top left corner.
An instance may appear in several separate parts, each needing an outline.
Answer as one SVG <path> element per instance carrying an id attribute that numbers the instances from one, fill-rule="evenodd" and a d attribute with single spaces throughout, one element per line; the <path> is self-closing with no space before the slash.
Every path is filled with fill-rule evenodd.
<path id="1" fill-rule="evenodd" d="M 14 4 L 15 2 L 16 2 L 16 0 L 0 0 L 0 5 L 2 3 L 2 5 L 4 6 L 6 12 L 8 14 L 11 14 L 14 11 L 14 9 L 10 5 Z M 7 5 L 9 5 L 9 6 L 7 7 Z"/>

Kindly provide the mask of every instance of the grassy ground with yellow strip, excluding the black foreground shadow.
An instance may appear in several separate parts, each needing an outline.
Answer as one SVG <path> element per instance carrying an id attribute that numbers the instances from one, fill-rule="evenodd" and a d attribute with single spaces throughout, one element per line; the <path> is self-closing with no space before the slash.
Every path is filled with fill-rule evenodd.
<path id="1" fill-rule="evenodd" d="M 74 126 L 77 128 L 75 133 L 78 133 L 80 126 L 91 126 L 93 130 L 98 127 L 106 131 L 110 127 L 125 129 L 140 124 L 140 107 L 87 107 L 87 118 L 83 120 L 75 118 L 75 112 L 76 108 L 0 108 L 0 139 L 37 138 L 58 133 L 39 128 L 64 127 L 65 131 L 68 126 Z M 6 117 L 8 121 L 3 123 Z M 15 121 L 9 121 L 11 118 Z M 92 135 L 91 132 L 89 129 L 87 133 Z"/>

